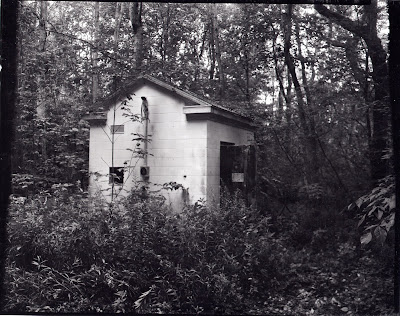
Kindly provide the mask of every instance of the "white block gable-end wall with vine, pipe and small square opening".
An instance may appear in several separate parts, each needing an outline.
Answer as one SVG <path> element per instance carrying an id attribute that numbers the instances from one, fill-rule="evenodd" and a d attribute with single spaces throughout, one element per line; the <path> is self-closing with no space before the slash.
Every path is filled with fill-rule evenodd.
<path id="1" fill-rule="evenodd" d="M 146 97 L 149 105 L 149 139 L 148 166 L 150 167 L 151 190 L 161 188 L 161 185 L 169 182 L 177 182 L 188 189 L 189 200 L 194 203 L 207 196 L 207 121 L 187 121 L 183 113 L 184 101 L 163 93 L 160 89 L 150 85 L 142 85 L 133 91 L 132 100 L 128 102 L 133 114 L 141 113 L 141 97 Z M 117 108 L 120 102 L 117 103 Z M 123 167 L 128 161 L 131 166 L 131 175 L 124 175 L 125 193 L 130 191 L 135 182 L 141 181 L 139 174 L 143 160 L 132 157 L 136 141 L 132 133 L 144 134 L 144 123 L 132 123 L 129 118 L 123 116 L 124 111 L 119 108 L 115 113 L 111 107 L 107 114 L 107 125 L 102 127 L 92 126 L 90 129 L 89 146 L 89 171 L 103 174 L 95 180 L 92 175 L 90 180 L 91 193 L 103 191 L 104 196 L 110 200 L 111 185 L 108 183 L 108 172 L 111 166 L 111 125 L 124 125 L 124 134 L 115 134 L 114 166 Z M 140 146 L 143 148 L 143 144 Z M 118 190 L 119 186 L 116 185 Z M 168 203 L 178 207 L 186 196 L 181 189 L 176 191 L 162 190 Z"/>

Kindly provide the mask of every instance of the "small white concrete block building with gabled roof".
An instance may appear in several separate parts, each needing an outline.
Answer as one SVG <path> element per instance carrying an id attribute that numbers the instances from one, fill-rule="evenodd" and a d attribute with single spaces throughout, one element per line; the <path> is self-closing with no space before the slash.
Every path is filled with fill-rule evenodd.
<path id="1" fill-rule="evenodd" d="M 149 191 L 161 189 L 173 208 L 198 200 L 217 204 L 221 146 L 254 142 L 249 118 L 148 75 L 101 105 L 104 112 L 85 117 L 89 191 L 108 200 L 145 184 Z M 181 186 L 162 189 L 166 183 Z"/>

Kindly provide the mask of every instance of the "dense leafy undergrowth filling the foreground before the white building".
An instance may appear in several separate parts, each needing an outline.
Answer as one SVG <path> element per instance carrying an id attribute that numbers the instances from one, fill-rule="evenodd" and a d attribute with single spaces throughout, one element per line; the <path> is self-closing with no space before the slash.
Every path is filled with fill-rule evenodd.
<path id="1" fill-rule="evenodd" d="M 224 195 L 176 214 L 66 190 L 13 200 L 4 311 L 390 313 L 391 265 L 361 255 L 339 213 L 290 204 L 273 220 Z"/>

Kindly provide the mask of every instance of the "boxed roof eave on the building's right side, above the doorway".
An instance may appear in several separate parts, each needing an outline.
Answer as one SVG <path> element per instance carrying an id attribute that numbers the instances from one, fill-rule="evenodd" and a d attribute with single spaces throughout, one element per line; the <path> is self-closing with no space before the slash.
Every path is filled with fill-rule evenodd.
<path id="1" fill-rule="evenodd" d="M 215 106 L 185 106 L 183 113 L 188 121 L 211 120 L 249 131 L 256 129 L 251 119 Z"/>

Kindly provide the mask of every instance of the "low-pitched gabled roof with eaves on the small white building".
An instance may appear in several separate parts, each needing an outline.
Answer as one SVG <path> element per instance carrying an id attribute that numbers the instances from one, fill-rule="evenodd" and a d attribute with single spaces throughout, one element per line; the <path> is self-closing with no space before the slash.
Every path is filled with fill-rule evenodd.
<path id="1" fill-rule="evenodd" d="M 125 99 L 130 93 L 132 93 L 132 90 L 144 83 L 156 85 L 184 99 L 187 106 L 185 106 L 183 112 L 186 114 L 188 120 L 217 120 L 250 130 L 255 129 L 255 126 L 252 124 L 252 119 L 249 117 L 215 104 L 211 100 L 208 100 L 193 92 L 180 89 L 172 84 L 146 74 L 139 75 L 135 80 L 122 86 L 116 92 L 97 102 L 97 108 L 103 108 L 105 111 L 108 111 L 113 104 Z M 102 115 L 102 112 L 97 112 L 95 114 L 86 116 L 85 119 L 93 123 L 101 124 L 105 117 Z"/>

